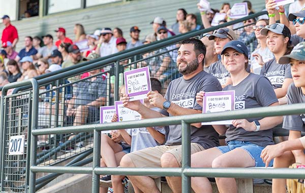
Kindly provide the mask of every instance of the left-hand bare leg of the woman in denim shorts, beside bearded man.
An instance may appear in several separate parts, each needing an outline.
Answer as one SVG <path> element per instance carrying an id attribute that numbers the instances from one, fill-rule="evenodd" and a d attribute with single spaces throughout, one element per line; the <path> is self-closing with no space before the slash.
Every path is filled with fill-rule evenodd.
<path id="1" fill-rule="evenodd" d="M 191 155 L 192 168 L 211 168 L 213 160 L 223 153 L 217 148 L 210 148 Z M 212 186 L 206 177 L 192 177 L 192 188 L 195 192 L 212 192 Z"/>

